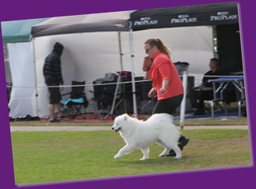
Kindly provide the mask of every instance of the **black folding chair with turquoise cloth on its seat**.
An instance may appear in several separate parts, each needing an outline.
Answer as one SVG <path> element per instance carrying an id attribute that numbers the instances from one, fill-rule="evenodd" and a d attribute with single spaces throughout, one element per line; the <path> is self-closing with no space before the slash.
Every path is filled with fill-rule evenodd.
<path id="1" fill-rule="evenodd" d="M 66 101 L 61 101 L 63 108 L 63 113 L 75 119 L 77 116 L 85 118 L 84 114 L 81 112 L 81 108 L 88 106 L 88 100 L 85 95 L 85 81 L 72 81 L 71 92 L 64 95 L 70 95 Z M 62 96 L 64 96 L 62 95 Z"/>

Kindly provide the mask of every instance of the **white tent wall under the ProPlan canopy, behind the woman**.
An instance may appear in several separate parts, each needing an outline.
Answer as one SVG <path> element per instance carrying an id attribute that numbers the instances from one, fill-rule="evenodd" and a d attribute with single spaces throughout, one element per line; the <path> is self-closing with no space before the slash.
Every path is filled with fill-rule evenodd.
<path id="1" fill-rule="evenodd" d="M 136 76 L 145 76 L 142 64 L 146 56 L 144 43 L 149 38 L 160 38 L 171 49 L 173 62 L 186 61 L 189 76 L 195 76 L 195 84 L 201 83 L 203 74 L 209 71 L 209 59 L 213 57 L 213 28 L 209 26 L 161 28 L 134 31 L 134 55 Z"/>

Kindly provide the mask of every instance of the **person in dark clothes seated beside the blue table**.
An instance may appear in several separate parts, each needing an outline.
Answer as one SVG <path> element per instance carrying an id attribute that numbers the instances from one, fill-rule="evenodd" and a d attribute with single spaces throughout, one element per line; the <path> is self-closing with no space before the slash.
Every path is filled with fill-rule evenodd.
<path id="1" fill-rule="evenodd" d="M 189 93 L 190 103 L 192 108 L 197 110 L 194 115 L 202 115 L 205 113 L 204 101 L 213 99 L 213 83 L 209 83 L 208 80 L 216 79 L 216 76 L 220 76 L 220 61 L 213 57 L 209 62 L 209 72 L 206 72 L 202 83 L 199 87 L 194 87 Z"/>

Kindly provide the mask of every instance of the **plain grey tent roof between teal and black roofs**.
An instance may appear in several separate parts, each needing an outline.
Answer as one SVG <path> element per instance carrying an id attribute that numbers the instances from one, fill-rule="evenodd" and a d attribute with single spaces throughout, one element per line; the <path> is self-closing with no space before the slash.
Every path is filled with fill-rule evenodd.
<path id="1" fill-rule="evenodd" d="M 128 11 L 53 17 L 32 27 L 32 36 L 60 35 L 92 31 L 129 31 Z"/>

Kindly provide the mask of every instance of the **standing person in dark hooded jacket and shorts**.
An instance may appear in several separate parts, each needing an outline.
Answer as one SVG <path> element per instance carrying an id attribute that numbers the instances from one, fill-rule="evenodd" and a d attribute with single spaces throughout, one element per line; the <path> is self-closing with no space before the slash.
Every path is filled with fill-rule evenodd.
<path id="1" fill-rule="evenodd" d="M 51 54 L 45 58 L 43 65 L 43 76 L 49 91 L 50 122 L 58 122 L 62 118 L 61 91 L 63 90 L 61 56 L 64 46 L 55 43 Z M 55 117 L 55 109 L 58 109 L 58 117 Z"/>

